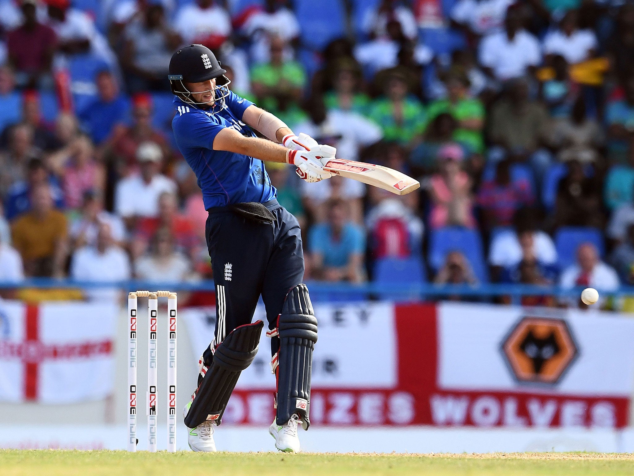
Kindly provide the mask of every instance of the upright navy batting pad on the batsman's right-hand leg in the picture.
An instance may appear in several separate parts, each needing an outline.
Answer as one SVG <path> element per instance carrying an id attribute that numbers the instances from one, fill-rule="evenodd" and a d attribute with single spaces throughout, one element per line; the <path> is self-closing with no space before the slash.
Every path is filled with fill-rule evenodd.
<path id="1" fill-rule="evenodd" d="M 310 425 L 311 368 L 317 341 L 317 319 L 306 284 L 291 289 L 278 317 L 280 351 L 277 376 L 276 422 L 284 425 L 293 413 L 299 414 L 304 430 Z"/>

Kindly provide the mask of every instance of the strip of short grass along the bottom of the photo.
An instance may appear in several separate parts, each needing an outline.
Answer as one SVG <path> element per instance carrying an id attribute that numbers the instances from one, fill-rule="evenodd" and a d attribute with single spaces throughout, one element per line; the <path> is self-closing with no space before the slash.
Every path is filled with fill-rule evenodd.
<path id="1" fill-rule="evenodd" d="M 282 454 L 0 450 L 0 475 L 634 475 L 633 454 Z"/>

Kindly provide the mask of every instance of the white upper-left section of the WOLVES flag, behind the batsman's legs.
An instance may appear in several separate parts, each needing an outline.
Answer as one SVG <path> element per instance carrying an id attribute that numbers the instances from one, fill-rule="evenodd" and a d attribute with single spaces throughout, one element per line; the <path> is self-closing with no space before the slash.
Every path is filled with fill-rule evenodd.
<path id="1" fill-rule="evenodd" d="M 313 354 L 313 388 L 396 385 L 396 332 L 391 303 L 316 304 L 314 309 L 319 330 Z M 190 329 L 195 352 L 202 355 L 214 339 L 215 309 L 188 308 L 179 316 Z M 266 322 L 263 306 L 256 309 L 254 321 L 257 319 Z M 265 325 L 256 359 L 242 372 L 236 388 L 275 390 L 267 330 Z"/>

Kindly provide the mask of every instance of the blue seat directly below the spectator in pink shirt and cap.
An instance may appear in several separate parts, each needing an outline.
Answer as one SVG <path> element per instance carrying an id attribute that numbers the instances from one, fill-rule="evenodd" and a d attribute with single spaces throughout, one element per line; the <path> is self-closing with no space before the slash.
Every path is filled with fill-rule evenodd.
<path id="1" fill-rule="evenodd" d="M 444 264 L 445 256 L 450 251 L 460 251 L 474 270 L 480 282 L 488 282 L 489 274 L 484 261 L 482 239 L 476 230 L 463 227 L 444 227 L 432 230 L 429 237 L 427 260 L 436 272 Z"/>

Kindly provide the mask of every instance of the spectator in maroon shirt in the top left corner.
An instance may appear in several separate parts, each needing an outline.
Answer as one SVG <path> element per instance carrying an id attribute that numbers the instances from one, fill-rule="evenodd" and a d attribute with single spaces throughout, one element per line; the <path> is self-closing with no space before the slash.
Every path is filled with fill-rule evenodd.
<path id="1" fill-rule="evenodd" d="M 57 38 L 48 25 L 37 21 L 36 0 L 22 0 L 23 22 L 7 35 L 10 65 L 21 87 L 51 86 L 51 62 Z"/>

